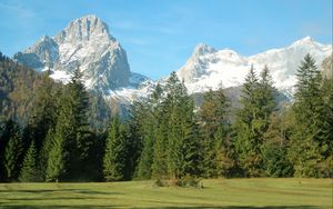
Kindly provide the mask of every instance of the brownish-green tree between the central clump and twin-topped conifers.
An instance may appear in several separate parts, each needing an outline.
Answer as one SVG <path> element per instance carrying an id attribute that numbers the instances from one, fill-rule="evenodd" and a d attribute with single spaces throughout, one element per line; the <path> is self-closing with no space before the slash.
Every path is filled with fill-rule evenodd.
<path id="1" fill-rule="evenodd" d="M 215 92 L 210 90 L 204 94 L 203 103 L 199 111 L 203 147 L 203 170 L 204 176 L 208 178 L 224 173 L 226 171 L 224 170 L 224 168 L 226 169 L 225 163 L 232 161 L 226 158 L 228 149 L 225 147 L 229 131 L 228 107 L 229 103 L 221 88 Z"/>

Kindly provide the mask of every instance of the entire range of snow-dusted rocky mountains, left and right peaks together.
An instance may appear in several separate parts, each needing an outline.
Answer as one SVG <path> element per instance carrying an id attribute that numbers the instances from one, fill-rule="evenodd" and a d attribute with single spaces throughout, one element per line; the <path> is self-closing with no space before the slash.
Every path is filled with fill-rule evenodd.
<path id="1" fill-rule="evenodd" d="M 216 50 L 199 43 L 176 74 L 189 93 L 202 93 L 220 87 L 238 89 L 251 66 L 256 73 L 268 66 L 278 90 L 291 99 L 297 66 L 306 53 L 313 56 L 321 68 L 322 61 L 332 54 L 332 44 L 305 37 L 285 48 L 244 57 L 231 49 Z M 89 90 L 125 104 L 145 97 L 167 79 L 152 81 L 131 71 L 125 50 L 112 37 L 108 24 L 94 14 L 73 20 L 54 37 L 42 37 L 13 59 L 37 71 L 50 70 L 50 77 L 63 83 L 79 67 Z"/>

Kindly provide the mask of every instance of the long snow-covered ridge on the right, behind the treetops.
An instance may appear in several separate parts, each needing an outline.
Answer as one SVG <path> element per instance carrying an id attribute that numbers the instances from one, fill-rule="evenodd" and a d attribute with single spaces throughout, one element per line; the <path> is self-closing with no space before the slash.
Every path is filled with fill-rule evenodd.
<path id="1" fill-rule="evenodd" d="M 215 50 L 200 43 L 178 76 L 184 80 L 189 92 L 194 93 L 218 89 L 221 84 L 224 88 L 241 86 L 252 64 L 258 74 L 266 64 L 275 87 L 291 96 L 297 67 L 306 53 L 313 56 L 320 67 L 332 54 L 332 44 L 322 44 L 305 37 L 286 48 L 243 57 L 230 49 Z"/>

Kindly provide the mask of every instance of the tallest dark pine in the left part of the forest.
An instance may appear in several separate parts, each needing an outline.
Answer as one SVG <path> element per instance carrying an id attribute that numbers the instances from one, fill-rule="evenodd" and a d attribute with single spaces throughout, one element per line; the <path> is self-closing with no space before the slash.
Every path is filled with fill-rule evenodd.
<path id="1" fill-rule="evenodd" d="M 60 97 L 60 109 L 49 153 L 47 179 L 71 180 L 84 175 L 89 153 L 88 92 L 81 81 L 80 69 Z"/>

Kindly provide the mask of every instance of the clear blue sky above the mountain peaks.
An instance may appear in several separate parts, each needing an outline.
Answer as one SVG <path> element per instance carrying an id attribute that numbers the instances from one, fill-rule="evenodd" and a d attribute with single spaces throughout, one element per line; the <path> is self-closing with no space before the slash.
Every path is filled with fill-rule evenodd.
<path id="1" fill-rule="evenodd" d="M 131 70 L 153 79 L 199 42 L 243 56 L 305 36 L 332 43 L 332 0 L 0 0 L 0 51 L 12 56 L 89 13 L 109 24 Z"/>

